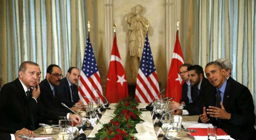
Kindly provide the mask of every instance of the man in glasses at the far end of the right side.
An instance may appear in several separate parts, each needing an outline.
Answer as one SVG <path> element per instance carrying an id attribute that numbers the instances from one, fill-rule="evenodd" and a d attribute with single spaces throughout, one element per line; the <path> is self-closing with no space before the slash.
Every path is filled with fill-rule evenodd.
<path id="1" fill-rule="evenodd" d="M 181 76 L 181 79 L 184 82 L 184 84 L 182 85 L 182 95 L 181 95 L 181 100 L 180 103 L 181 104 L 188 104 L 188 103 L 192 103 L 192 97 L 191 97 L 191 93 L 192 93 L 192 88 L 191 88 L 191 84 L 189 81 L 189 77 L 188 77 L 188 67 L 190 67 L 191 64 L 188 63 L 184 63 L 179 67 L 179 75 Z"/>

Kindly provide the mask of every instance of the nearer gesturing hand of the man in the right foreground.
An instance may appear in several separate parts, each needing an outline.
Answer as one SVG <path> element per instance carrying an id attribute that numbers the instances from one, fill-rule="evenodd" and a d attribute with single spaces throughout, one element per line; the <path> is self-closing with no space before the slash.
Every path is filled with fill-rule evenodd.
<path id="1" fill-rule="evenodd" d="M 222 102 L 220 102 L 220 107 L 221 108 L 209 106 L 209 109 L 207 109 L 207 114 L 210 114 L 210 117 L 214 118 L 230 119 L 231 114 L 226 112 Z"/>

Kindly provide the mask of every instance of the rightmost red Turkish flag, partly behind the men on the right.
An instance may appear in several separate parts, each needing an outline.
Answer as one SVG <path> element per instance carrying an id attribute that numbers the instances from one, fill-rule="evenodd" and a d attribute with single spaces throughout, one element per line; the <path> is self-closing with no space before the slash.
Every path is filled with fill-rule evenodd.
<path id="1" fill-rule="evenodd" d="M 182 64 L 184 64 L 184 58 L 181 51 L 181 45 L 179 44 L 179 30 L 177 30 L 165 96 L 174 97 L 174 101 L 178 103 L 181 100 L 182 84 L 184 83 L 179 75 L 179 67 Z"/>

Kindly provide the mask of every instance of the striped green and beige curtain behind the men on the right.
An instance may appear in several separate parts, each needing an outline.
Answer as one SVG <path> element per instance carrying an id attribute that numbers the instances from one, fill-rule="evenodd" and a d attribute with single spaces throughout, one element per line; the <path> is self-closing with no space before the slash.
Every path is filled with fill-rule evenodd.
<path id="1" fill-rule="evenodd" d="M 254 0 L 182 0 L 180 42 L 184 59 L 203 68 L 226 58 L 232 77 L 256 101 L 256 3 Z M 192 52 L 192 53 L 191 53 Z M 256 112 L 256 106 L 255 112 Z"/>

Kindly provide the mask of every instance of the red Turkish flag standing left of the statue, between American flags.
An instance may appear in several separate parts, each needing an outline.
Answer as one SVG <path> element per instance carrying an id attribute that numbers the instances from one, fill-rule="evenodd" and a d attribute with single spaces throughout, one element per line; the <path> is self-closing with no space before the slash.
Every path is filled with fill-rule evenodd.
<path id="1" fill-rule="evenodd" d="M 127 96 L 127 78 L 116 44 L 115 33 L 106 83 L 106 98 L 110 103 L 117 103 L 121 98 L 126 98 Z"/>

